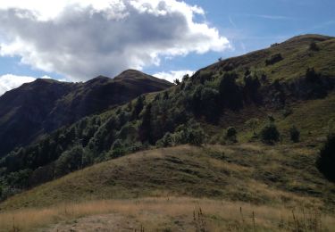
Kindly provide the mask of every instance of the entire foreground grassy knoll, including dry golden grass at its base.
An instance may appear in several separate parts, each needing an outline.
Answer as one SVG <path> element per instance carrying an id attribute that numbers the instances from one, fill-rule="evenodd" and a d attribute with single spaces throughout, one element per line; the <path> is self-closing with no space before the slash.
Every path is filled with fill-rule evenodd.
<path id="1" fill-rule="evenodd" d="M 91 223 L 94 217 L 105 217 L 112 220 L 111 226 L 126 227 L 122 223 L 133 221 L 138 229 L 194 230 L 197 221 L 192 214 L 201 208 L 211 231 L 252 230 L 253 213 L 259 231 L 311 226 L 309 220 L 320 220 L 322 231 L 331 231 L 335 188 L 316 170 L 316 154 L 317 149 L 301 145 L 255 143 L 181 145 L 133 153 L 9 198 L 0 204 L 0 228 L 13 227 L 13 220 L 6 219 L 15 217 L 14 224 L 23 231 L 56 231 L 85 225 L 85 217 L 93 215 Z M 22 218 L 27 213 L 31 220 Z M 319 231 L 319 222 L 315 223 L 311 230 Z"/>

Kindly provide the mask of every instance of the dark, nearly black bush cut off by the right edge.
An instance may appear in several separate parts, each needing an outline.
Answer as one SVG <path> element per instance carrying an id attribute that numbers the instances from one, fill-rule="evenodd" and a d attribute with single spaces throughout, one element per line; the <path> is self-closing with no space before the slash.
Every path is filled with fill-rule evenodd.
<path id="1" fill-rule="evenodd" d="M 330 134 L 322 146 L 317 167 L 326 178 L 335 181 L 335 134 Z"/>

